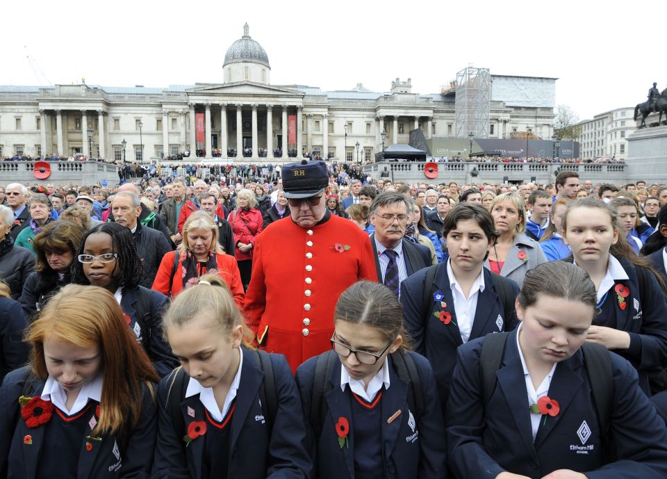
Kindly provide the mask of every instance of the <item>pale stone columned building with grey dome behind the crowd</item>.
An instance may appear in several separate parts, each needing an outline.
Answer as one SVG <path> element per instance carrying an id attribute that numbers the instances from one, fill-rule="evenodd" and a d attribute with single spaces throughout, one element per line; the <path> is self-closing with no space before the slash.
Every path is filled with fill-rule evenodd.
<path id="1" fill-rule="evenodd" d="M 0 157 L 83 154 L 122 161 L 198 152 L 206 159 L 368 162 L 383 147 L 426 138 L 468 138 L 461 127 L 456 82 L 440 92 L 412 92 L 411 79 L 387 92 L 359 83 L 352 90 L 272 85 L 269 58 L 249 35 L 224 56 L 222 83 L 147 88 L 56 85 L 0 86 Z M 486 70 L 488 72 L 488 70 Z M 550 139 L 554 78 L 490 75 L 486 131 L 475 137 Z M 457 125 L 457 120 L 459 124 Z M 472 128 L 470 129 L 472 133 Z"/>

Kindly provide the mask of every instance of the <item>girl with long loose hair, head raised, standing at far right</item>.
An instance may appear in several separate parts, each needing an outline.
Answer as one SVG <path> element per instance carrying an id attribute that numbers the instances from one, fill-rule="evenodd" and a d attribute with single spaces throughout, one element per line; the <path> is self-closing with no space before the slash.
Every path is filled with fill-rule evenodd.
<path id="1" fill-rule="evenodd" d="M 650 396 L 663 389 L 667 364 L 667 306 L 654 270 L 619 237 L 618 221 L 604 202 L 584 198 L 570 203 L 563 217 L 563 239 L 574 261 L 591 277 L 600 312 L 586 340 L 625 357 L 639 372 Z"/>

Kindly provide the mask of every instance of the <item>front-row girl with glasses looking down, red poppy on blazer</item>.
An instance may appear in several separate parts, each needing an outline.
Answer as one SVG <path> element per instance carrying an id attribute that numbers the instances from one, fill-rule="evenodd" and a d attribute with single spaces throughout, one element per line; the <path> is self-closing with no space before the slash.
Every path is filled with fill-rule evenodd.
<path id="1" fill-rule="evenodd" d="M 404 348 L 402 311 L 386 286 L 340 295 L 331 351 L 297 368 L 319 479 L 444 478 L 445 431 L 433 371 Z"/>

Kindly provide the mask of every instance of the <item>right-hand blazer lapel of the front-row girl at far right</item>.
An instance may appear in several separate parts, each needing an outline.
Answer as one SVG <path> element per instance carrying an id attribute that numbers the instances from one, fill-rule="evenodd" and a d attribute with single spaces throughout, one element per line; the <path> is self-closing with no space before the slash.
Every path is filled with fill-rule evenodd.
<path id="1" fill-rule="evenodd" d="M 581 354 L 581 351 L 579 351 L 576 355 L 570 357 L 570 359 L 560 362 L 556 366 L 548 394 L 551 399 L 558 401 L 560 411 L 557 416 L 543 416 L 541 419 L 540 428 L 537 430 L 537 436 L 535 437 L 536 449 L 540 447 L 550 432 L 554 430 L 584 382 L 581 375 L 577 373 L 577 370 L 582 367 Z"/>

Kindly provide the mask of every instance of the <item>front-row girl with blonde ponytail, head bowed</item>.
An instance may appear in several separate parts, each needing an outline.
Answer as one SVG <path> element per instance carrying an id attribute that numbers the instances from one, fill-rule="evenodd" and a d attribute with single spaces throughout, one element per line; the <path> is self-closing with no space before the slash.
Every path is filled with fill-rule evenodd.
<path id="1" fill-rule="evenodd" d="M 153 478 L 306 478 L 311 460 L 292 372 L 252 337 L 224 279 L 204 275 L 164 318 L 182 368 L 158 386 Z"/>

